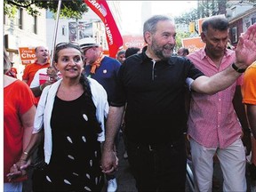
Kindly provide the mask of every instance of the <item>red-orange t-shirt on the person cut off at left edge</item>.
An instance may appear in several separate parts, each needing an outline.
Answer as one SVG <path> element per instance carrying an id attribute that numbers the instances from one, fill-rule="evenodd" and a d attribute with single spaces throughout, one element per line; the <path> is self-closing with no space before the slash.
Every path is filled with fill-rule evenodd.
<path id="1" fill-rule="evenodd" d="M 28 112 L 35 104 L 35 96 L 28 84 L 16 80 L 4 87 L 4 182 L 8 182 L 6 174 L 10 172 L 12 164 L 20 159 L 24 149 L 22 142 L 24 128 L 20 115 Z"/>

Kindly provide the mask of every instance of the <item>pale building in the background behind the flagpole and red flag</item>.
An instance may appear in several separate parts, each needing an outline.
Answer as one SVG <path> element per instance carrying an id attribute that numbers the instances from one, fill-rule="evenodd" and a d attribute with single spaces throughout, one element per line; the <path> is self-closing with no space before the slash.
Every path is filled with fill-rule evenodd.
<path id="1" fill-rule="evenodd" d="M 103 50 L 108 49 L 104 24 L 90 8 L 88 12 L 84 13 L 81 20 L 60 18 L 56 22 L 54 18 L 52 12 L 46 13 L 46 42 L 51 51 L 55 41 L 53 36 L 56 28 L 56 44 L 61 42 L 78 42 L 84 38 L 94 38 L 96 43 L 102 46 Z"/>

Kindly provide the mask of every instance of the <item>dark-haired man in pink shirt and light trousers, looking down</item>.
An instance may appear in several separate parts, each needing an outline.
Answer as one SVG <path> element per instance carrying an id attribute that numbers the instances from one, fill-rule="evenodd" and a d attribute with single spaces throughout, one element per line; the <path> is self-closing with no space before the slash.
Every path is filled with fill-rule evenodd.
<path id="1" fill-rule="evenodd" d="M 227 49 L 228 20 L 224 16 L 212 16 L 204 20 L 202 31 L 205 47 L 189 54 L 188 59 L 205 76 L 213 76 L 236 60 L 236 53 Z M 232 67 L 238 73 L 244 72 L 235 64 Z M 243 131 L 232 103 L 236 87 L 240 88 L 241 84 L 242 76 L 227 89 L 215 94 L 191 94 L 188 135 L 196 189 L 199 191 L 212 191 L 215 154 L 223 172 L 223 191 L 246 191 L 246 162 L 241 140 Z"/>

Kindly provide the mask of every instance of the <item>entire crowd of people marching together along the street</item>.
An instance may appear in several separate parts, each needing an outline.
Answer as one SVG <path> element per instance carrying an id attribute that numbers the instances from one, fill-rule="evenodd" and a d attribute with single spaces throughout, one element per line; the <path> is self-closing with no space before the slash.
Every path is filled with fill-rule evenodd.
<path id="1" fill-rule="evenodd" d="M 212 191 L 217 158 L 223 191 L 245 192 L 249 154 L 256 182 L 256 25 L 235 50 L 228 29 L 212 16 L 204 48 L 175 55 L 172 19 L 155 15 L 142 50 L 110 58 L 94 42 L 60 43 L 51 65 L 37 46 L 22 81 L 4 51 L 4 191 L 21 192 L 33 170 L 33 191 L 115 192 L 123 132 L 138 191 L 185 191 L 189 156 L 196 191 Z"/>

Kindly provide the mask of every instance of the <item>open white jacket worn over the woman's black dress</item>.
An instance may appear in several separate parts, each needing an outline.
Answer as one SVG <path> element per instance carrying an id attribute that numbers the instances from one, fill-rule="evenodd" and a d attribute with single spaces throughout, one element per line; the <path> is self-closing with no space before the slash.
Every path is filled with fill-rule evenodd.
<path id="1" fill-rule="evenodd" d="M 91 85 L 92 100 L 96 107 L 96 116 L 102 128 L 102 132 L 100 132 L 98 135 L 98 140 L 102 142 L 105 140 L 104 117 L 107 118 L 109 109 L 107 92 L 96 80 L 92 78 L 88 79 Z M 44 161 L 46 164 L 50 163 L 50 159 L 52 156 L 52 128 L 50 121 L 52 116 L 54 98 L 56 96 L 61 81 L 62 79 L 52 84 L 51 86 L 46 86 L 44 88 L 38 106 L 36 108 L 33 133 L 40 132 L 44 127 Z"/>

